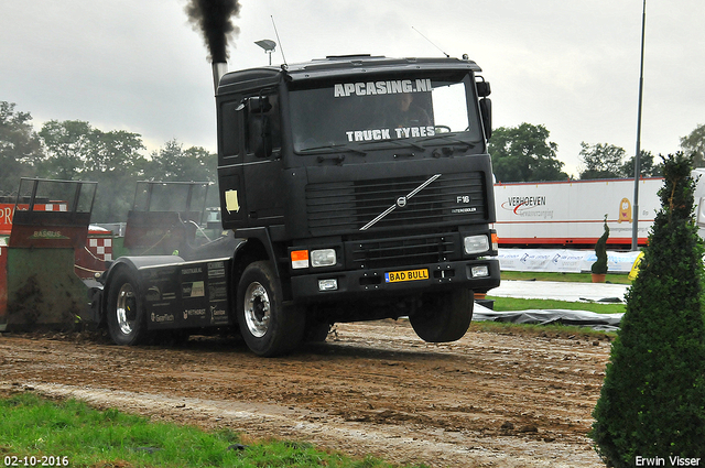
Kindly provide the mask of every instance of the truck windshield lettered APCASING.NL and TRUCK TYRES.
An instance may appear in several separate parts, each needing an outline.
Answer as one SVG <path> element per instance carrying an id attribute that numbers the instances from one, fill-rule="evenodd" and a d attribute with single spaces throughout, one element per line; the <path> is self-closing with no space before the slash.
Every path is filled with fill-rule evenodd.
<path id="1" fill-rule="evenodd" d="M 294 151 L 481 140 L 470 75 L 335 81 L 293 90 Z M 452 133 L 452 134 L 448 134 Z M 368 148 L 366 148 L 367 150 Z"/>

